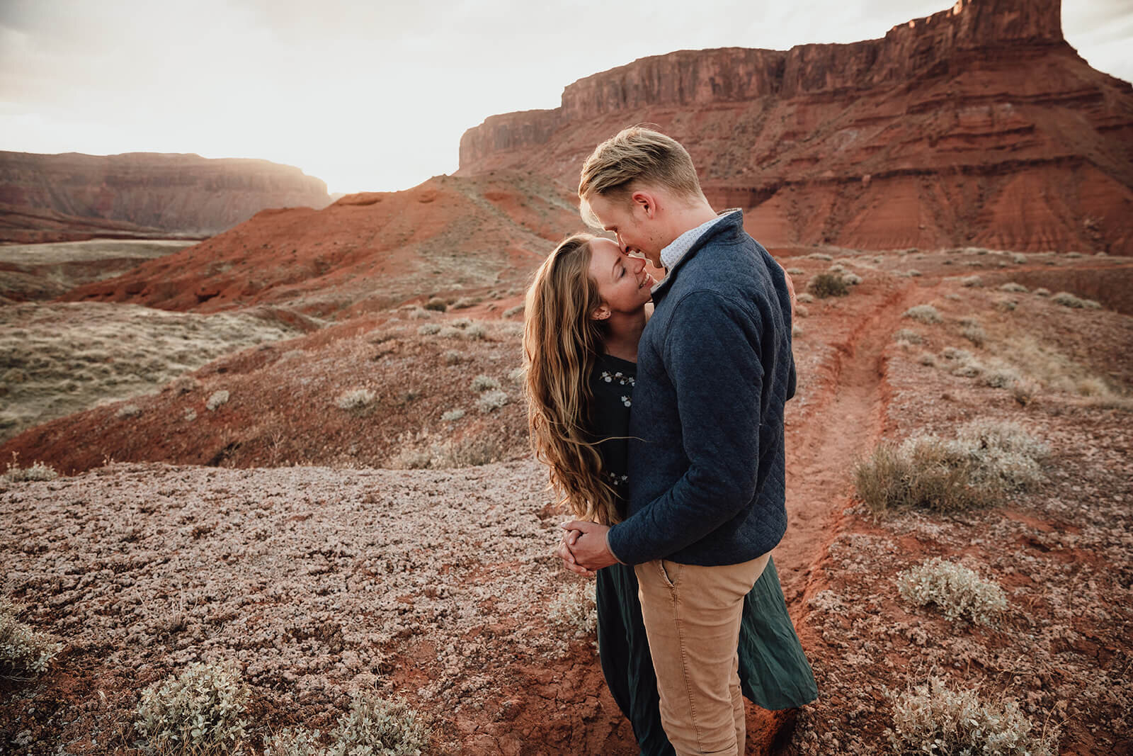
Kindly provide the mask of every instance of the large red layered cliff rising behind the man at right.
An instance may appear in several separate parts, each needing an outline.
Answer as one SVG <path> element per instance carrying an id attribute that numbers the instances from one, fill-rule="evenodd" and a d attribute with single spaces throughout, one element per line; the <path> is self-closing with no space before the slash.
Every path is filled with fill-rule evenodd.
<path id="1" fill-rule="evenodd" d="M 494 116 L 460 171 L 576 184 L 634 122 L 690 151 L 709 199 L 775 246 L 1133 254 L 1133 87 L 1063 40 L 1057 0 L 961 0 L 884 39 L 645 58 Z"/>

